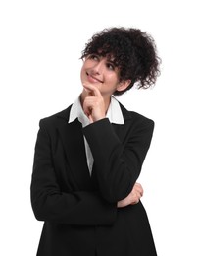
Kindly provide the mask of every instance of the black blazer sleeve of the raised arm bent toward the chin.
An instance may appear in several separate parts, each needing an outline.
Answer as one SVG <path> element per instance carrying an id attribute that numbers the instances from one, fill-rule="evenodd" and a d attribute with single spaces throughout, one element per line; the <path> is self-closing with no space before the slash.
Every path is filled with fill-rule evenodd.
<path id="1" fill-rule="evenodd" d="M 101 194 L 108 202 L 118 202 L 131 192 L 150 146 L 154 122 L 146 117 L 137 118 L 133 125 L 127 121 L 121 129 L 125 133 L 122 141 L 108 118 L 83 129 Z"/>

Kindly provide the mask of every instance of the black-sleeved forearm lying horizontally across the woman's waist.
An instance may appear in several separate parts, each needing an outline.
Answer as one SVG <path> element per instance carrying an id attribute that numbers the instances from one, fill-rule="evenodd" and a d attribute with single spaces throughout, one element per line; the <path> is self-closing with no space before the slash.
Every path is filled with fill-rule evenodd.
<path id="1" fill-rule="evenodd" d="M 31 185 L 31 203 L 39 221 L 61 224 L 98 225 L 113 224 L 117 205 L 106 202 L 98 192 L 78 191 L 60 193 L 53 187 L 38 188 Z"/>

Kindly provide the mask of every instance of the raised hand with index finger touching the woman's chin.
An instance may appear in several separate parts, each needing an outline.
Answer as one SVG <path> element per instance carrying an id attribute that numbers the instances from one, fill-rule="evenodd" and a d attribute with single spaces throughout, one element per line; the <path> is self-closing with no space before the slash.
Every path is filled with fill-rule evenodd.
<path id="1" fill-rule="evenodd" d="M 93 85 L 83 85 L 87 95 L 83 98 L 83 110 L 91 122 L 105 118 L 106 109 L 103 96 L 99 89 Z"/>

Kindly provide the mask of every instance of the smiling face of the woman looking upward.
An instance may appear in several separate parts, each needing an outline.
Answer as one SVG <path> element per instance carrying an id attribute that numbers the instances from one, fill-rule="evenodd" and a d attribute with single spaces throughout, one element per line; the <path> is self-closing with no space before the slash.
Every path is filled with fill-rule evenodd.
<path id="1" fill-rule="evenodd" d="M 120 85 L 119 69 L 106 57 L 90 54 L 83 61 L 81 82 L 96 86 L 102 96 L 111 96 Z"/>

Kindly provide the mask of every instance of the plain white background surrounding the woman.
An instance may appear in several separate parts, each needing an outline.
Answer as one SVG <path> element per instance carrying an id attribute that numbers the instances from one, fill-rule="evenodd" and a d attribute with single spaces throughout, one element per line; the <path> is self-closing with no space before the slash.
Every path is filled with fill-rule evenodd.
<path id="1" fill-rule="evenodd" d="M 29 186 L 38 121 L 81 91 L 85 42 L 106 27 L 156 40 L 162 75 L 119 100 L 155 120 L 142 199 L 159 256 L 197 256 L 197 8 L 188 0 L 0 2 L 0 255 L 35 256 L 42 223 Z"/>

